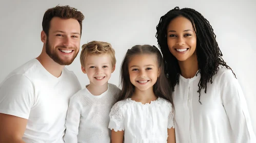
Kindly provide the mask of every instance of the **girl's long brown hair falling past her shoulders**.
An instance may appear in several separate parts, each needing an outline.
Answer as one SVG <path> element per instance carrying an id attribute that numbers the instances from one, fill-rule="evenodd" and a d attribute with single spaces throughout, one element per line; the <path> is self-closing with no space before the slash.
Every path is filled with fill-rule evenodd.
<path id="1" fill-rule="evenodd" d="M 117 101 L 131 98 L 132 94 L 134 93 L 135 87 L 130 81 L 128 64 L 133 56 L 142 54 L 154 54 L 156 56 L 157 64 L 160 69 L 160 76 L 157 78 L 156 83 L 153 85 L 154 94 L 157 98 L 160 97 L 168 100 L 174 107 L 172 101 L 172 88 L 169 85 L 168 80 L 164 73 L 164 61 L 162 54 L 159 51 L 159 49 L 157 49 L 157 47 L 151 45 L 135 45 L 127 51 L 121 65 L 122 90 Z"/>

